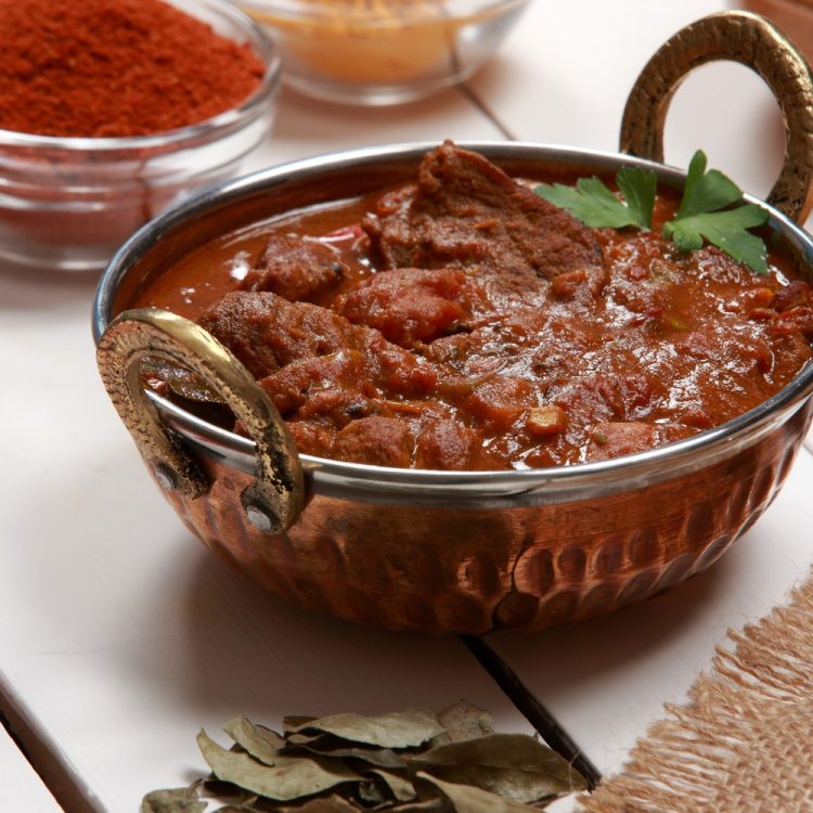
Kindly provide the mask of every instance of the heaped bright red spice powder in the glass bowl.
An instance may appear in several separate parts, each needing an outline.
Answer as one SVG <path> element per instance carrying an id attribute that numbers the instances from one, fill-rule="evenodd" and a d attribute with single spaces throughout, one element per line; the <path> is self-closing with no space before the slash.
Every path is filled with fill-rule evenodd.
<path id="1" fill-rule="evenodd" d="M 264 66 L 160 0 L 0 0 L 0 129 L 145 136 L 238 105 Z"/>

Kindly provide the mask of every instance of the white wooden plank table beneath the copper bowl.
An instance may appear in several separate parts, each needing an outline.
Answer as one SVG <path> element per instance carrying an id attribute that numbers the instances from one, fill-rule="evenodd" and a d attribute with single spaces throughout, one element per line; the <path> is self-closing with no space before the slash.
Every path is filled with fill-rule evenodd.
<path id="1" fill-rule="evenodd" d="M 246 169 L 371 143 L 506 134 L 612 151 L 650 53 L 724 3 L 625 1 L 622 23 L 618 8 L 537 0 L 465 92 L 384 109 L 284 93 L 273 138 Z M 764 194 L 782 149 L 770 94 L 737 67 L 699 73 L 670 115 L 668 162 L 685 166 L 702 146 Z M 0 710 L 59 803 L 136 811 L 144 792 L 199 775 L 195 733 L 238 713 L 274 725 L 285 713 L 439 710 L 466 697 L 500 728 L 529 731 L 460 641 L 287 606 L 183 530 L 99 382 L 94 286 L 0 269 Z M 488 643 L 601 770 L 617 769 L 661 704 L 709 664 L 727 625 L 780 601 L 813 563 L 811 486 L 803 451 L 776 504 L 721 563 L 643 607 Z M 0 738 L 0 809 L 57 809 L 15 749 Z"/>

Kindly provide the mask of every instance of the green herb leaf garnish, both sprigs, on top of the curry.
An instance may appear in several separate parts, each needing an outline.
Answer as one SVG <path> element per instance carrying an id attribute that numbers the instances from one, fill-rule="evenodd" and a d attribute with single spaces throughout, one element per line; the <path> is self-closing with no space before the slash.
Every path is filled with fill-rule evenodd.
<path id="1" fill-rule="evenodd" d="M 722 249 L 758 274 L 767 272 L 767 248 L 748 229 L 764 225 L 769 214 L 757 204 L 743 204 L 743 191 L 718 169 L 706 170 L 707 158 L 698 150 L 688 165 L 678 211 L 663 225 L 663 236 L 681 251 L 701 248 L 704 240 Z M 594 228 L 649 229 L 655 207 L 657 178 L 640 167 L 623 167 L 616 175 L 621 201 L 598 178 L 580 178 L 576 188 L 543 183 L 535 192 Z"/>

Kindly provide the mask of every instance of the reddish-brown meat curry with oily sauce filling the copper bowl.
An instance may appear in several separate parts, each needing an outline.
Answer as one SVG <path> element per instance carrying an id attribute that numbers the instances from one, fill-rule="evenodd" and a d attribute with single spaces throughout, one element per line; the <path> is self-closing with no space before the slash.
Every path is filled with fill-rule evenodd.
<path id="1" fill-rule="evenodd" d="M 789 263 L 593 230 L 444 144 L 414 184 L 214 241 L 133 306 L 199 321 L 301 452 L 505 469 L 642 451 L 728 421 L 811 360 Z M 160 386 L 160 385 L 159 385 Z M 184 402 L 186 403 L 186 402 Z"/>

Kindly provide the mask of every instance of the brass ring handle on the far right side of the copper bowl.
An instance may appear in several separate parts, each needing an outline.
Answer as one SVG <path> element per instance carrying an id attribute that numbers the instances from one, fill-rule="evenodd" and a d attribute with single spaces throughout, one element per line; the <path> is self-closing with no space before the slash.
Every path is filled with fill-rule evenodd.
<path id="1" fill-rule="evenodd" d="M 757 14 L 730 11 L 686 26 L 641 72 L 624 107 L 621 152 L 663 162 L 663 126 L 675 90 L 707 62 L 730 60 L 756 70 L 779 104 L 785 162 L 767 203 L 803 222 L 813 207 L 813 78 L 804 57 Z"/>

